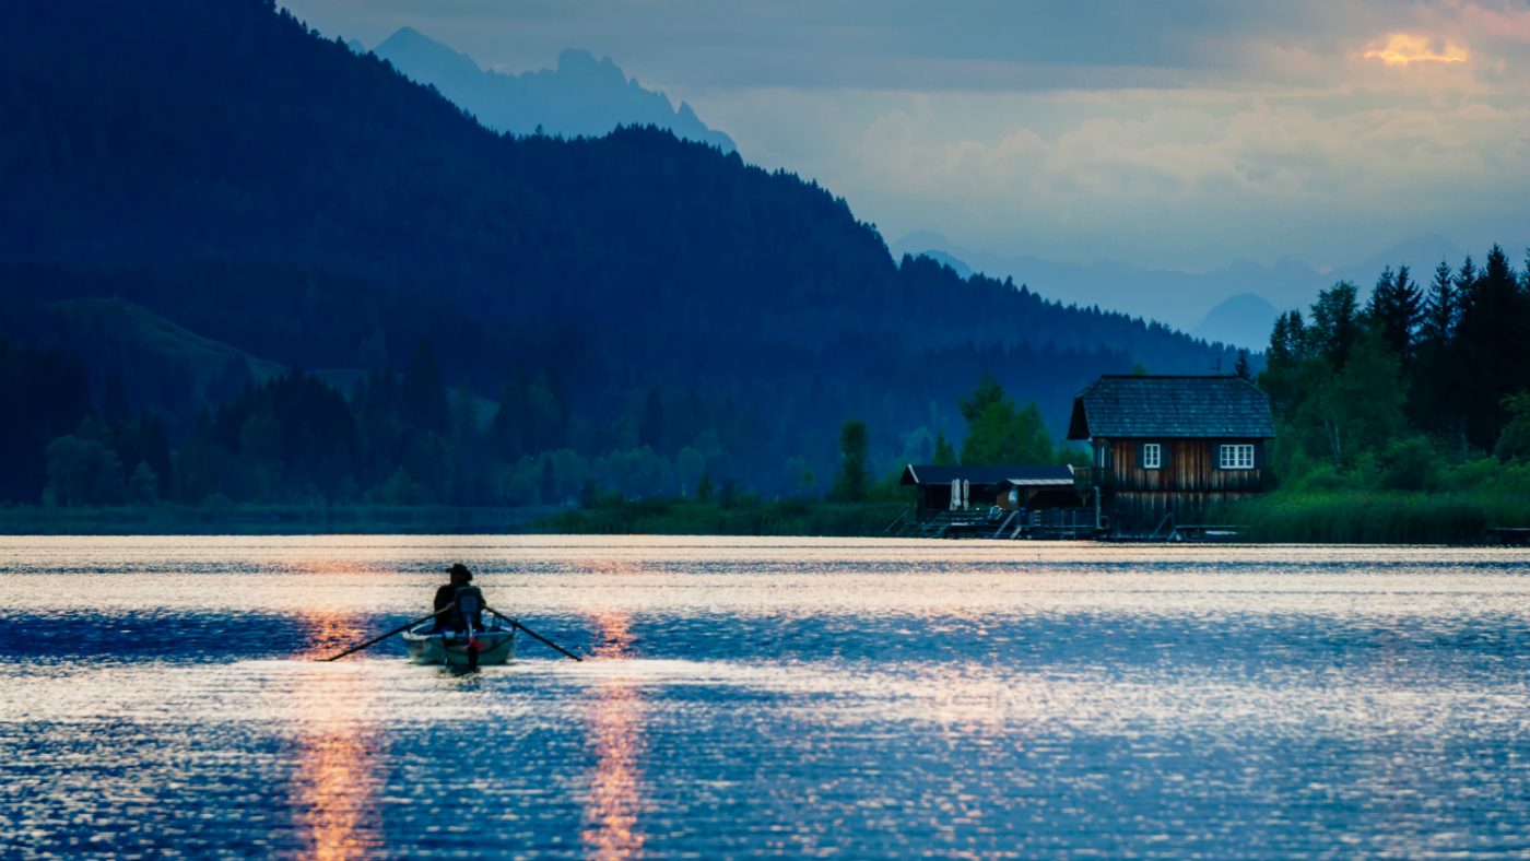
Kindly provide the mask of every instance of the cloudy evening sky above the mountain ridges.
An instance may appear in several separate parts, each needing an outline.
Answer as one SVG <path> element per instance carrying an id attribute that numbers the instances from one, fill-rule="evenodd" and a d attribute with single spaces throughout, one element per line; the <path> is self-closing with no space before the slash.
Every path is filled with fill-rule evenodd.
<path id="1" fill-rule="evenodd" d="M 503 72 L 609 55 L 889 243 L 1203 271 L 1530 240 L 1530 0 L 283 5 Z"/>

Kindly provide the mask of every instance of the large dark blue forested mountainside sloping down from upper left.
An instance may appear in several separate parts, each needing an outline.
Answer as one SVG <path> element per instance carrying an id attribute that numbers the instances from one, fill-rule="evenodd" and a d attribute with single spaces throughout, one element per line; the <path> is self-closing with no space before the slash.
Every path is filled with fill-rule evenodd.
<path id="1" fill-rule="evenodd" d="M 110 356 L 136 353 L 81 349 L 70 300 L 133 301 L 222 346 L 197 355 L 350 369 L 370 381 L 337 395 L 352 421 L 366 396 L 392 404 L 378 392 L 422 355 L 441 385 L 496 404 L 459 425 L 497 422 L 497 443 L 421 428 L 350 482 L 251 479 L 237 491 L 251 497 L 363 499 L 399 469 L 425 488 L 404 495 L 436 502 L 551 502 L 581 479 L 673 492 L 698 459 L 765 492 L 822 489 L 846 418 L 868 422 L 874 463 L 890 466 L 936 433 L 962 436 L 950 405 L 984 370 L 1056 425 L 1099 373 L 1233 366 L 1161 326 L 895 262 L 845 200 L 737 154 L 644 128 L 496 135 L 263 0 L 0 5 L 0 110 L 9 355 L 81 373 L 96 421 L 127 373 Z M 17 323 L 37 320 L 50 323 Z M 203 428 L 171 447 L 260 462 L 259 433 L 210 430 L 259 411 L 259 392 L 234 395 L 254 382 L 237 364 L 185 369 L 226 393 L 200 424 L 121 407 Z M 309 381 L 291 376 L 292 390 Z M 597 466 L 621 459 L 647 466 Z M 482 480 L 421 474 L 447 462 Z M 12 499 L 35 500 L 28 486 Z"/>

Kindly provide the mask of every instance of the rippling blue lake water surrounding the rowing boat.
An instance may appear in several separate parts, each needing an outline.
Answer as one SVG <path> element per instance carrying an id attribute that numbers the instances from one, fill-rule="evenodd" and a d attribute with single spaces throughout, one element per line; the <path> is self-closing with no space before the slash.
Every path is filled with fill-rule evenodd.
<path id="1" fill-rule="evenodd" d="M 465 561 L 577 651 L 416 667 Z M 1530 552 L 0 538 L 0 855 L 1530 852 Z"/>

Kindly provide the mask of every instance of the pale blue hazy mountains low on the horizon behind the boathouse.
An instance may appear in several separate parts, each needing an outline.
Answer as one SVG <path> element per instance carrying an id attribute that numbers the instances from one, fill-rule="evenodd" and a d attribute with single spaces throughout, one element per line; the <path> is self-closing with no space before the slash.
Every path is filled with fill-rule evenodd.
<path id="1" fill-rule="evenodd" d="M 1460 266 L 1466 251 L 1440 236 L 1398 243 L 1354 265 L 1319 271 L 1297 260 L 1273 265 L 1233 263 L 1207 272 L 1144 269 L 1129 263 L 1057 263 L 1042 257 L 1005 257 L 961 246 L 932 231 L 909 234 L 895 252 L 929 254 L 958 271 L 1011 277 L 1054 301 L 1100 306 L 1158 320 L 1207 341 L 1262 350 L 1270 326 L 1284 310 L 1305 310 L 1317 292 L 1354 281 L 1369 294 L 1385 266 L 1406 265 L 1427 283 L 1441 258 Z"/>

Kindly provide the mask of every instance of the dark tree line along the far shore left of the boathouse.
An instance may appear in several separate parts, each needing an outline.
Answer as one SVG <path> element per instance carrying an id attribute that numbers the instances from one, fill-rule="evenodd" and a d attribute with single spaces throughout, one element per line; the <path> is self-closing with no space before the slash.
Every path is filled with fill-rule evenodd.
<path id="1" fill-rule="evenodd" d="M 349 395 L 291 369 L 246 381 L 174 439 L 135 411 L 118 378 L 92 396 L 64 353 L 0 336 L 0 502 L 52 506 L 155 505 L 592 505 L 614 499 L 724 502 L 760 488 L 728 474 L 725 434 L 696 399 L 658 392 L 604 427 L 584 424 L 546 373 L 513 373 L 497 402 L 445 385 L 422 341 L 401 375 L 358 378 Z M 959 453 L 944 433 L 909 434 L 875 456 L 866 422 L 846 421 L 838 466 L 780 463 L 774 497 L 861 503 L 894 494 L 904 462 L 1047 463 L 1068 453 L 1034 402 L 1017 407 L 984 373 L 959 399 Z M 725 424 L 724 424 L 725 427 Z"/>

